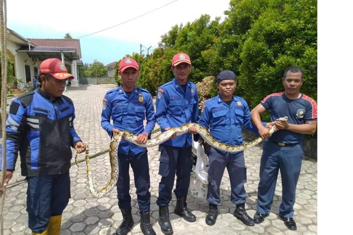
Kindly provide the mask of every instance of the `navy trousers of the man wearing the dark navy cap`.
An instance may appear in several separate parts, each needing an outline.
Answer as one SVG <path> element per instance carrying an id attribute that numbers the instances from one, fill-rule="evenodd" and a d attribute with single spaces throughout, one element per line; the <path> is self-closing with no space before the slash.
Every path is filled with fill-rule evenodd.
<path id="1" fill-rule="evenodd" d="M 246 167 L 244 151 L 238 153 L 222 153 L 210 148 L 208 169 L 207 202 L 210 204 L 221 203 L 220 185 L 225 168 L 227 167 L 231 183 L 231 202 L 234 204 L 245 203 L 246 192 Z"/>

